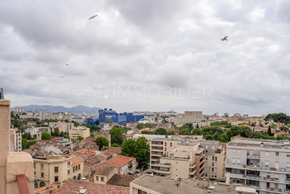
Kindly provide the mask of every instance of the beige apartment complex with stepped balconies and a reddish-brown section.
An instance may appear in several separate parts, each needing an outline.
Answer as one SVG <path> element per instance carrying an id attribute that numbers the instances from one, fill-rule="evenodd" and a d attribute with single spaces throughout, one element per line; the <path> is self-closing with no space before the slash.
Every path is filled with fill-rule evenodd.
<path id="1" fill-rule="evenodd" d="M 149 145 L 150 168 L 157 175 L 211 179 L 224 176 L 224 150 L 218 141 L 154 138 Z"/>

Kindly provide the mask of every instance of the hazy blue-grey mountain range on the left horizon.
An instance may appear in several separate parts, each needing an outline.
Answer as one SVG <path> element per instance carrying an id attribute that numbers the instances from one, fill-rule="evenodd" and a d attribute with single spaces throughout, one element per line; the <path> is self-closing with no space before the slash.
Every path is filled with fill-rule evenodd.
<path id="1" fill-rule="evenodd" d="M 88 106 L 83 105 L 74 106 L 72 108 L 51 105 L 28 105 L 28 106 L 14 106 L 11 108 L 11 110 L 14 110 L 14 108 L 23 108 L 23 111 L 33 111 L 33 112 L 35 112 L 36 110 L 37 112 L 39 110 L 45 110 L 46 112 L 72 112 L 78 114 L 81 114 L 82 112 L 99 114 L 99 110 L 104 110 L 103 108 L 97 107 L 90 108 Z"/>

